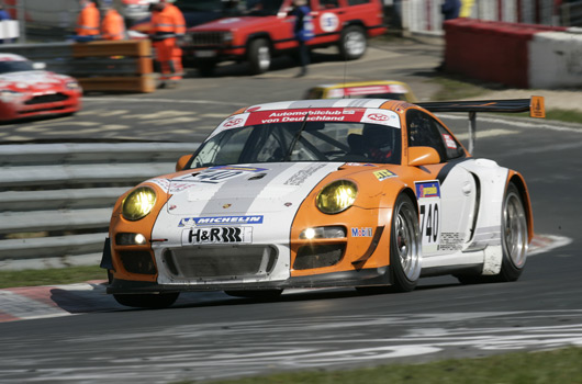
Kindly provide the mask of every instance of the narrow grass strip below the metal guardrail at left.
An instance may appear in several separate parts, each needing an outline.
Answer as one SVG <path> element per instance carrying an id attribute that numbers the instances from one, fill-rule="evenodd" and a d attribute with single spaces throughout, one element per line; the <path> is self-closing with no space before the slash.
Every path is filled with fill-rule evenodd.
<path id="1" fill-rule="evenodd" d="M 99 268 L 99 266 L 45 270 L 0 271 L 0 289 L 71 284 L 89 280 L 107 280 L 107 271 Z"/>

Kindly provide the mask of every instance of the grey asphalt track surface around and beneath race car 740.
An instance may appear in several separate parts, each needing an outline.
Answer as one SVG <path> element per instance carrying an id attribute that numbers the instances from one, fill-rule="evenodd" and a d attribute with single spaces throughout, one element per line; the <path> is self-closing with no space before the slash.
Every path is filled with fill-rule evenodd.
<path id="1" fill-rule="evenodd" d="M 438 54 L 380 46 L 349 63 L 348 75 L 322 55 L 301 79 L 284 61 L 257 77 L 226 67 L 176 90 L 91 95 L 78 115 L 3 125 L 0 139 L 195 143 L 242 105 L 301 98 L 344 78 L 402 79 L 426 100 Z M 465 116 L 443 118 L 466 140 Z M 405 294 L 293 291 L 276 302 L 184 294 L 164 310 L 124 308 L 99 282 L 2 290 L 0 310 L 13 316 L 0 317 L 0 382 L 171 383 L 582 346 L 582 126 L 480 115 L 478 127 L 474 156 L 521 171 L 530 190 L 539 238 L 518 282 L 441 276 Z"/>

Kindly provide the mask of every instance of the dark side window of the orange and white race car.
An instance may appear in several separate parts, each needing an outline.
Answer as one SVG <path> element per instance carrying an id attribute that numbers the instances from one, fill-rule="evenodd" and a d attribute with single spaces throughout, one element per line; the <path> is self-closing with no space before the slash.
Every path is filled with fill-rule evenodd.
<path id="1" fill-rule="evenodd" d="M 408 110 L 406 112 L 406 127 L 410 147 L 435 148 L 440 156 L 440 161 L 447 160 L 443 136 L 433 117 L 418 110 Z"/>

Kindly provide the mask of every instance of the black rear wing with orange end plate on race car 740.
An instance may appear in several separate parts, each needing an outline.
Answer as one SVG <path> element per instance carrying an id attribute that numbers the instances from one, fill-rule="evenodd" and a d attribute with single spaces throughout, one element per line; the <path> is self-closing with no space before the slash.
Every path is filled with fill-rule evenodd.
<path id="1" fill-rule="evenodd" d="M 477 100 L 477 101 L 437 101 L 417 103 L 433 113 L 436 112 L 468 112 L 469 113 L 469 153 L 473 153 L 477 133 L 477 112 L 519 113 L 529 112 L 530 117 L 546 117 L 544 97 L 531 99 L 510 100 Z"/>

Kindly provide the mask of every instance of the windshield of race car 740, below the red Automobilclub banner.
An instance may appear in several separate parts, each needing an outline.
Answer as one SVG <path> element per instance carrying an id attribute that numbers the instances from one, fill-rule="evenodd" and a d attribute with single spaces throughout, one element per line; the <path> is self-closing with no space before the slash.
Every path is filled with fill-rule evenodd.
<path id="1" fill-rule="evenodd" d="M 222 131 L 202 144 L 191 168 L 281 161 L 400 163 L 400 154 L 401 132 L 392 126 L 279 122 Z"/>

